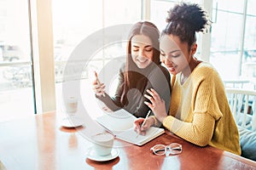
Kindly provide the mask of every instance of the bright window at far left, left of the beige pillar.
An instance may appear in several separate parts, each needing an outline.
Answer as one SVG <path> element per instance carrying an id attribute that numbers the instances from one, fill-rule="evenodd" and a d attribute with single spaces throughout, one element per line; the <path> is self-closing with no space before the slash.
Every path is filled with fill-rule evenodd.
<path id="1" fill-rule="evenodd" d="M 0 119 L 35 113 L 28 1 L 0 1 Z"/>

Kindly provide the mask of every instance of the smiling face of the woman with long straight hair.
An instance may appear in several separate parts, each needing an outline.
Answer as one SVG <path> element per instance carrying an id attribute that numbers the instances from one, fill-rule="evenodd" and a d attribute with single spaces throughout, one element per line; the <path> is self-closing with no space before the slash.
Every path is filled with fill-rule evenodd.
<path id="1" fill-rule="evenodd" d="M 146 68 L 153 59 L 154 48 L 149 37 L 136 35 L 131 38 L 131 57 L 138 68 Z"/>

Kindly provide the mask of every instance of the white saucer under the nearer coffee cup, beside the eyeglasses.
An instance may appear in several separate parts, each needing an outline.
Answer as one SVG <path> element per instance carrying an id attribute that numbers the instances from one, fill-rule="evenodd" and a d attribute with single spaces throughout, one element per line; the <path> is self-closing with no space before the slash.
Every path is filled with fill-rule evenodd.
<path id="1" fill-rule="evenodd" d="M 112 149 L 108 156 L 98 156 L 93 147 L 86 151 L 85 156 L 92 161 L 110 161 L 119 156 L 119 150 Z"/>

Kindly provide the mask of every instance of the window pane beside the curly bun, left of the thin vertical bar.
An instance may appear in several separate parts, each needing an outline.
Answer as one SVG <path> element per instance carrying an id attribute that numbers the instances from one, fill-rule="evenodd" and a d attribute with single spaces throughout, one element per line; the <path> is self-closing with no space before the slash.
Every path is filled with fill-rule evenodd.
<path id="1" fill-rule="evenodd" d="M 213 1 L 210 62 L 223 79 L 240 76 L 243 11 L 244 1 Z"/>

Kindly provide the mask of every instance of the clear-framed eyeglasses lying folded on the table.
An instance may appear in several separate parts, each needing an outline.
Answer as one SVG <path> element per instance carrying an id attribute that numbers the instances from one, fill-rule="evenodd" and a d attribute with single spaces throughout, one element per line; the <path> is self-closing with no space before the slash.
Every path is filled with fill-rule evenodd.
<path id="1" fill-rule="evenodd" d="M 169 156 L 170 154 L 177 155 L 182 153 L 183 146 L 177 143 L 172 143 L 169 145 L 156 144 L 152 148 L 150 148 L 150 150 L 152 150 L 154 155 L 157 155 L 157 156 L 162 156 L 162 155 Z"/>

